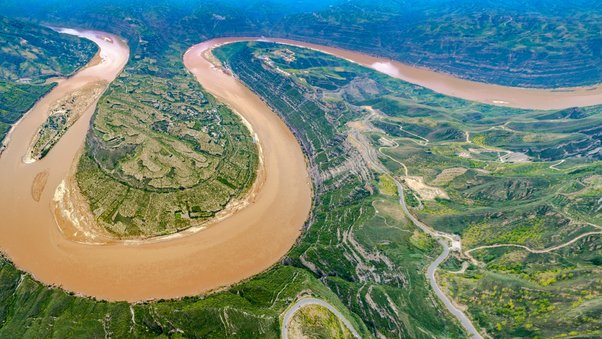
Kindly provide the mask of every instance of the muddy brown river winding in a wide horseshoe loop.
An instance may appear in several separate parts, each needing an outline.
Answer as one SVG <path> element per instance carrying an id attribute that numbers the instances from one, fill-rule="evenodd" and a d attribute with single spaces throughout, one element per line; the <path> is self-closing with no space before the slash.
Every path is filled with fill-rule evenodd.
<path id="1" fill-rule="evenodd" d="M 194 295 L 264 271 L 293 246 L 311 207 L 311 183 L 301 148 L 284 122 L 238 80 L 214 65 L 215 39 L 193 46 L 184 64 L 203 87 L 238 112 L 257 136 L 261 180 L 251 202 L 198 232 L 147 241 L 91 244 L 64 234 L 52 213 L 56 188 L 67 178 L 84 143 L 95 105 L 48 155 L 25 163 L 32 137 L 52 103 L 86 84 L 112 81 L 128 60 L 127 45 L 111 34 L 69 31 L 96 42 L 102 62 L 62 80 L 14 127 L 0 157 L 0 248 L 36 279 L 83 295 L 138 301 Z M 271 39 L 343 57 L 435 91 L 522 108 L 563 108 L 602 103 L 600 88 L 567 91 L 510 88 L 460 80 L 390 60 L 336 48 Z"/>

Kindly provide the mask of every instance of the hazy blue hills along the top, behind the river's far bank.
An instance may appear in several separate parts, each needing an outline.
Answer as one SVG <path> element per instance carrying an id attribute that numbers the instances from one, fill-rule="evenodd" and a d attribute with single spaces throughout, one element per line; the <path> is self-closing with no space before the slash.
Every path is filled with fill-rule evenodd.
<path id="1" fill-rule="evenodd" d="M 192 45 L 219 36 L 288 37 L 503 85 L 572 87 L 602 79 L 598 0 L 324 0 L 287 6 L 226 0 L 56 6 L 28 0 L 35 14 L 20 10 L 15 3 L 21 2 L 6 0 L 0 10 L 105 29 L 132 45 L 142 37 L 156 52 L 173 41 Z"/>

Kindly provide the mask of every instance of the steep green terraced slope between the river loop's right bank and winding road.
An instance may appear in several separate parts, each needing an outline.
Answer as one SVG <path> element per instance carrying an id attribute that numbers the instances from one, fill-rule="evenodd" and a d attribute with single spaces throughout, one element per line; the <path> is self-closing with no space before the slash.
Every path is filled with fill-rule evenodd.
<path id="1" fill-rule="evenodd" d="M 348 139 L 348 123 L 366 114 L 348 93 L 375 93 L 377 88 L 373 82 L 374 87 L 361 87 L 366 79 L 351 85 L 349 80 L 368 71 L 274 44 L 230 44 L 215 53 L 281 115 L 309 158 L 315 207 L 289 261 L 320 277 L 373 335 L 463 336 L 424 274 L 440 249 L 414 235 L 417 229 L 403 215 L 397 197 L 379 193 L 383 179 L 387 187 L 386 177 L 379 178 L 361 148 Z M 320 87 L 311 85 L 315 82 Z"/>

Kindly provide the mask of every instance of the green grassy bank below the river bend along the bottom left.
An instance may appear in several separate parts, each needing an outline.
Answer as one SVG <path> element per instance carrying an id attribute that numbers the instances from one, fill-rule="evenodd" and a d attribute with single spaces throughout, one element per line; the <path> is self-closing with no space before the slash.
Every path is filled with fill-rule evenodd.
<path id="1" fill-rule="evenodd" d="M 278 338 L 279 315 L 298 295 L 344 309 L 305 270 L 279 267 L 217 294 L 139 304 L 82 298 L 46 287 L 0 259 L 0 337 Z M 358 317 L 346 314 L 360 333 Z"/>

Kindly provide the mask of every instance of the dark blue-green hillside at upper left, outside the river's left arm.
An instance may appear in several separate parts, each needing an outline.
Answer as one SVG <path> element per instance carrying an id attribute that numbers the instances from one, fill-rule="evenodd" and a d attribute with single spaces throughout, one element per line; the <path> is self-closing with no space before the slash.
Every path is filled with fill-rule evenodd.
<path id="1" fill-rule="evenodd" d="M 96 53 L 94 43 L 0 16 L 0 141 L 46 94 L 50 77 L 68 76 Z"/>

